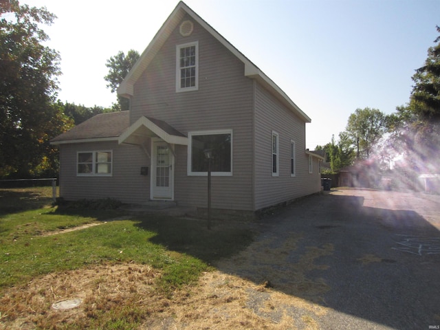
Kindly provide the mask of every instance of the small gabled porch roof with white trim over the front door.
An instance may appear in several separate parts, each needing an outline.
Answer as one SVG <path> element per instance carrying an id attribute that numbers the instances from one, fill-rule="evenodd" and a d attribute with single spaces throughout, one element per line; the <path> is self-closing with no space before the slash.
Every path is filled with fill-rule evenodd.
<path id="1" fill-rule="evenodd" d="M 142 145 L 146 138 L 159 137 L 169 144 L 188 145 L 188 137 L 168 123 L 142 116 L 118 138 L 119 144 Z"/>

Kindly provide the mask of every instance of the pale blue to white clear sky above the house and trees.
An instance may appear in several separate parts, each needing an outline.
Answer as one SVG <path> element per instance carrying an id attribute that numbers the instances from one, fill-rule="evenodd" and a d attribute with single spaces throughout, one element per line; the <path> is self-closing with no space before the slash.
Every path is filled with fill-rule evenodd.
<path id="1" fill-rule="evenodd" d="M 336 141 L 365 107 L 395 112 L 439 35 L 439 0 L 186 0 L 310 118 L 306 147 Z M 177 0 L 21 0 L 58 18 L 43 26 L 61 54 L 62 102 L 110 107 L 107 59 L 140 54 Z"/>

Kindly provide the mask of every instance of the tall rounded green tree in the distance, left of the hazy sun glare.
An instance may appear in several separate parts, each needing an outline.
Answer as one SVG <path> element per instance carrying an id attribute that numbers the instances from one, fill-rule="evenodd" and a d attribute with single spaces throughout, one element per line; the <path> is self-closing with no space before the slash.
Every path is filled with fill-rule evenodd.
<path id="1" fill-rule="evenodd" d="M 346 131 L 358 148 L 358 157 L 369 158 L 372 147 L 386 131 L 386 116 L 377 109 L 356 109 L 349 117 Z"/>

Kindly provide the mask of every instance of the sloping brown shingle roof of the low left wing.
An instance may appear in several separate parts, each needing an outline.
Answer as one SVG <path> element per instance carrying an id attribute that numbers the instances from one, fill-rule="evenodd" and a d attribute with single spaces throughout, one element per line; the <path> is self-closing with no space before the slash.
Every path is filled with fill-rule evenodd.
<path id="1" fill-rule="evenodd" d="M 54 137 L 52 144 L 93 141 L 117 141 L 129 127 L 129 111 L 100 113 L 74 126 L 71 130 Z"/>

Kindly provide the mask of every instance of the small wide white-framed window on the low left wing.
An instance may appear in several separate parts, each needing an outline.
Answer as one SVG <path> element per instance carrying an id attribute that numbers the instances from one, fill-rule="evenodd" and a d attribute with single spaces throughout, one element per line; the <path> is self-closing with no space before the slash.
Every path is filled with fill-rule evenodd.
<path id="1" fill-rule="evenodd" d="M 76 174 L 79 176 L 110 176 L 113 155 L 111 151 L 80 151 L 77 154 Z"/>

